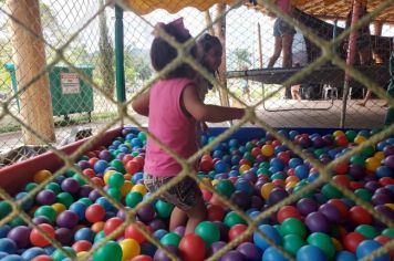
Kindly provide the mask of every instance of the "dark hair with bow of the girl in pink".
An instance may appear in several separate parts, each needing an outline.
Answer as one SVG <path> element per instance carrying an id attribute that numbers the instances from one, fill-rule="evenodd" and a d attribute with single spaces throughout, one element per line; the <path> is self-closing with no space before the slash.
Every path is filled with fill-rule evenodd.
<path id="1" fill-rule="evenodd" d="M 175 38 L 179 43 L 185 43 L 191 38 L 190 34 L 180 32 L 178 28 L 173 24 L 163 25 L 163 30 Z M 190 49 L 191 56 L 196 56 L 196 46 Z M 167 43 L 163 38 L 156 36 L 153 40 L 151 48 L 151 62 L 155 71 L 162 71 L 168 63 L 177 56 L 177 50 Z M 164 79 L 185 77 L 193 73 L 191 67 L 187 63 L 180 63 L 176 69 L 167 73 Z"/>

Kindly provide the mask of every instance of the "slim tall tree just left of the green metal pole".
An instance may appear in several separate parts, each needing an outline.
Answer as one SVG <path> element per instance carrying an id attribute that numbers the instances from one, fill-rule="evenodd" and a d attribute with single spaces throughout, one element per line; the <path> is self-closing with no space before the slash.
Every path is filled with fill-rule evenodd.
<path id="1" fill-rule="evenodd" d="M 104 6 L 104 1 L 100 0 L 100 8 Z M 114 75 L 114 50 L 112 48 L 108 28 L 106 27 L 105 10 L 98 14 L 100 27 L 100 72 L 103 77 L 103 90 L 113 95 L 115 88 L 115 75 Z"/>

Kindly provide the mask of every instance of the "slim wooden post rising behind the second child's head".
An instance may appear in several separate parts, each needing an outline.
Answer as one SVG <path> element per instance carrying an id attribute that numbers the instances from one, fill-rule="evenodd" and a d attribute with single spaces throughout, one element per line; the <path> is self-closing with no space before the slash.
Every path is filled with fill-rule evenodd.
<path id="1" fill-rule="evenodd" d="M 226 3 L 218 3 L 217 4 L 217 17 L 221 17 L 226 12 Z M 222 45 L 222 56 L 221 56 L 221 64 L 219 67 L 219 80 L 222 84 L 222 88 L 219 88 L 220 94 L 220 104 L 222 106 L 229 106 L 228 101 L 228 92 L 227 92 L 227 65 L 226 65 L 226 17 L 221 17 L 221 19 L 217 22 L 217 33 L 216 35 L 220 39 Z"/>

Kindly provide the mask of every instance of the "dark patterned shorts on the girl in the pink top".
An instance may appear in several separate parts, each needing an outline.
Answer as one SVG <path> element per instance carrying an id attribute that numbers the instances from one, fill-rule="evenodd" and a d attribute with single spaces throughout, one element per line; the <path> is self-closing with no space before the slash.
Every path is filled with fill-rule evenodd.
<path id="1" fill-rule="evenodd" d="M 172 180 L 172 178 L 173 177 L 154 177 L 152 175 L 144 174 L 144 184 L 149 192 L 154 192 Z M 187 211 L 203 201 L 203 194 L 197 182 L 194 179 L 186 177 L 163 192 L 160 195 L 160 199 L 175 205 L 184 211 Z"/>

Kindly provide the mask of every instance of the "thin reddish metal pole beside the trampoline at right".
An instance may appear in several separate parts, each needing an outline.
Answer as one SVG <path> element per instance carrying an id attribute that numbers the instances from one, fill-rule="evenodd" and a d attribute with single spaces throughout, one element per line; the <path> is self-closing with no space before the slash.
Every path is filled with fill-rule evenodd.
<path id="1" fill-rule="evenodd" d="M 351 22 L 351 28 L 356 24 L 359 21 L 359 14 L 360 14 L 360 8 L 361 8 L 361 2 L 360 0 L 354 0 L 353 1 L 353 13 L 352 13 L 352 22 Z M 354 58 L 355 58 L 355 41 L 357 39 L 357 32 L 352 30 L 349 36 L 349 46 L 348 46 L 348 58 L 346 58 L 346 64 L 348 65 L 353 65 L 354 63 Z M 345 73 L 345 80 L 344 80 L 344 86 L 343 86 L 343 97 L 342 97 L 342 112 L 341 112 L 341 123 L 340 127 L 343 128 L 345 125 L 346 121 L 346 105 L 348 105 L 348 96 L 349 96 L 349 84 L 350 84 L 350 75 L 346 72 Z"/>

